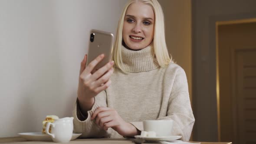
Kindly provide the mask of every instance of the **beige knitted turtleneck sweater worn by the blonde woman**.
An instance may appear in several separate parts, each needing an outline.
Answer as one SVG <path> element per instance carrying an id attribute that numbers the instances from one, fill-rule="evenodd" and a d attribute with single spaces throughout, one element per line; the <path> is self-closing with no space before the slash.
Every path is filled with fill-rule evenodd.
<path id="1" fill-rule="evenodd" d="M 121 138 L 112 128 L 105 131 L 90 120 L 95 109 L 102 106 L 115 108 L 121 118 L 140 131 L 143 131 L 144 120 L 174 120 L 173 135 L 181 135 L 183 141 L 189 141 L 195 120 L 184 70 L 174 63 L 161 68 L 154 60 L 151 46 L 139 51 L 122 47 L 121 52 L 128 73 L 114 70 L 111 86 L 95 96 L 85 120 L 75 102 L 74 132 L 82 133 L 84 138 Z"/>

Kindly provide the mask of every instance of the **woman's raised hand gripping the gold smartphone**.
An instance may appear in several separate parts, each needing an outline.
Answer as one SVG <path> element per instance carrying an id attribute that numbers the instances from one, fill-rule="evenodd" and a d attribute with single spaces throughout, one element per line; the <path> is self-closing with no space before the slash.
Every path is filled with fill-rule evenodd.
<path id="1" fill-rule="evenodd" d="M 113 73 L 113 61 L 108 62 L 92 74 L 94 67 L 103 58 L 104 54 L 98 56 L 86 66 L 87 55 L 85 55 L 81 62 L 77 97 L 79 100 L 79 106 L 83 113 L 86 113 L 86 111 L 89 111 L 92 108 L 92 105 L 94 104 L 94 97 L 108 88 L 111 84 L 111 80 L 109 78 Z"/>

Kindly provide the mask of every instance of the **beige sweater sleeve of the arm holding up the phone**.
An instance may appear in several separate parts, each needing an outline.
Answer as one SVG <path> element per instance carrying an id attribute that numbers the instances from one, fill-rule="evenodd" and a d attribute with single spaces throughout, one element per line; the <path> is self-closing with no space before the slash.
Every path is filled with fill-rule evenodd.
<path id="1" fill-rule="evenodd" d="M 106 102 L 106 92 L 102 91 L 98 95 L 95 96 L 95 102 L 90 111 L 87 111 L 88 117 L 82 118 L 78 100 L 75 101 L 75 105 L 73 108 L 73 117 L 74 117 L 74 132 L 82 133 L 80 137 L 82 138 L 100 138 L 100 137 L 109 137 L 110 134 L 108 131 L 100 128 L 94 121 L 91 121 L 92 113 L 98 107 L 107 107 Z M 85 119 L 85 120 L 84 120 Z"/>

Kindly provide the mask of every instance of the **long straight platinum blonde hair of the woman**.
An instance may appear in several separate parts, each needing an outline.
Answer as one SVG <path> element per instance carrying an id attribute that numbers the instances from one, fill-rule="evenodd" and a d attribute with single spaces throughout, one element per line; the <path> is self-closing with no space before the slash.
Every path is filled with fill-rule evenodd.
<path id="1" fill-rule="evenodd" d="M 112 60 L 115 61 L 115 66 L 125 72 L 122 68 L 122 56 L 121 56 L 121 46 L 122 46 L 122 30 L 124 26 L 125 13 L 127 8 L 131 3 L 136 3 L 141 1 L 142 3 L 148 4 L 153 8 L 155 23 L 154 23 L 154 55 L 161 67 L 166 67 L 170 62 L 172 62 L 171 55 L 169 56 L 166 42 L 165 42 L 165 33 L 164 33 L 164 13 L 160 3 L 157 0 L 129 0 L 123 9 L 121 17 L 118 22 L 118 29 L 116 33 L 116 39 L 113 49 Z"/>

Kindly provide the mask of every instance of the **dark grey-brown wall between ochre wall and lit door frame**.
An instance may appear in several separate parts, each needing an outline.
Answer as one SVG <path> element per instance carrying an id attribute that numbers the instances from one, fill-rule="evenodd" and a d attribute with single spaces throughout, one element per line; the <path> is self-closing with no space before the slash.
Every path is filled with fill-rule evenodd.
<path id="1" fill-rule="evenodd" d="M 195 141 L 218 141 L 215 21 L 256 17 L 255 5 L 255 0 L 192 1 Z"/>

